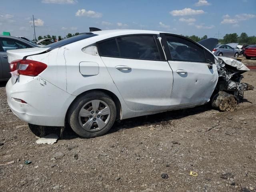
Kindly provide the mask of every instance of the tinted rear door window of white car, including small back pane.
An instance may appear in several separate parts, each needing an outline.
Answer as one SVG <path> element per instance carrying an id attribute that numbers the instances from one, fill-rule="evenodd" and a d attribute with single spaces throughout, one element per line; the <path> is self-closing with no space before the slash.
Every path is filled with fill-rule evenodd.
<path id="1" fill-rule="evenodd" d="M 128 59 L 160 60 L 160 54 L 151 35 L 123 36 L 98 43 L 100 56 Z"/>

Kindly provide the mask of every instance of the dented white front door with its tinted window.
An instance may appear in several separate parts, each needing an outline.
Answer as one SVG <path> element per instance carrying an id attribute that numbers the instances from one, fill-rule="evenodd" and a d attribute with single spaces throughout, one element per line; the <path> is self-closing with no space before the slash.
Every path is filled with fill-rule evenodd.
<path id="1" fill-rule="evenodd" d="M 208 102 L 218 80 L 212 53 L 183 36 L 161 37 L 174 78 L 171 108 Z"/>

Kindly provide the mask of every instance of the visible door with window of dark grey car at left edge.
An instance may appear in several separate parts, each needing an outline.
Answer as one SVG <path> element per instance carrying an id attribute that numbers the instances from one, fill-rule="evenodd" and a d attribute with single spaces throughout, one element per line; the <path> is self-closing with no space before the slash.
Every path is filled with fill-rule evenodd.
<path id="1" fill-rule="evenodd" d="M 10 78 L 11 74 L 6 51 L 31 48 L 31 46 L 11 38 L 0 38 L 0 45 L 2 46 L 2 50 L 0 51 L 0 58 L 2 61 L 2 78 Z"/>

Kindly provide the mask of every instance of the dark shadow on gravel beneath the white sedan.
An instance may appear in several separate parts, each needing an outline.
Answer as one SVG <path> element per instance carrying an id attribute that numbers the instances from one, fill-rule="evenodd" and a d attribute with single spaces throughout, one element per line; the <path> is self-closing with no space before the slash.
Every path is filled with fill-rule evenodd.
<path id="1" fill-rule="evenodd" d="M 162 112 L 154 115 L 140 116 L 140 117 L 125 119 L 122 121 L 116 121 L 113 127 L 110 129 L 110 131 L 106 134 L 112 134 L 114 132 L 118 132 L 123 129 L 130 129 L 130 128 L 135 128 L 143 125 L 164 124 L 165 122 L 168 122 L 170 120 L 184 118 L 186 116 L 195 115 L 195 114 L 202 113 L 212 109 L 213 108 L 210 104 L 205 104 L 205 105 L 194 107 L 194 108 Z M 54 130 L 54 133 L 60 135 L 59 130 Z M 82 138 L 82 137 L 78 136 L 75 132 L 73 132 L 73 130 L 69 125 L 65 126 L 65 129 L 61 134 L 61 139 L 70 140 L 74 138 Z"/>

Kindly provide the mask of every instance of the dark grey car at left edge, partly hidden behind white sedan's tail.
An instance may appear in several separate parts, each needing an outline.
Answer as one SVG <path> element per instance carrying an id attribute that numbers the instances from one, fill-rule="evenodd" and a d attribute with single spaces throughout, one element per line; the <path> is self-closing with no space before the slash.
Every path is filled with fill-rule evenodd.
<path id="1" fill-rule="evenodd" d="M 38 46 L 18 37 L 0 35 L 0 81 L 7 81 L 11 77 L 6 51 L 32 47 Z"/>

